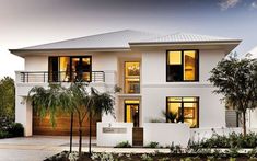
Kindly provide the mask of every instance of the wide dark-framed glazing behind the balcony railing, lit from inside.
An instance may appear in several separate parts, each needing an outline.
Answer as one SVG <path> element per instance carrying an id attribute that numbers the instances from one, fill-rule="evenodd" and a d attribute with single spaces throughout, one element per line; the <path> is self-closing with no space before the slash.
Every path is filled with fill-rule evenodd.
<path id="1" fill-rule="evenodd" d="M 49 57 L 49 81 L 91 81 L 92 62 L 90 56 Z"/>

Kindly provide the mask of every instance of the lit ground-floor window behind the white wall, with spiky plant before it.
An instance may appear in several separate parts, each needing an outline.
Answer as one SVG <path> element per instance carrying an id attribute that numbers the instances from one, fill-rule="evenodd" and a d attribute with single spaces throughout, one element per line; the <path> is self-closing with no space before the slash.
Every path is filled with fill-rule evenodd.
<path id="1" fill-rule="evenodd" d="M 187 123 L 190 127 L 199 127 L 198 97 L 171 96 L 166 101 L 166 122 Z"/>

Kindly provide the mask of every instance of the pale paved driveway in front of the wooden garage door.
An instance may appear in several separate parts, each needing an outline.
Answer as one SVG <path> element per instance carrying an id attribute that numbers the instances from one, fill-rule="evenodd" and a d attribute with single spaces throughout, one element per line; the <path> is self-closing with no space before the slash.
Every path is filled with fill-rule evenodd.
<path id="1" fill-rule="evenodd" d="M 87 147 L 87 138 L 83 138 L 83 147 Z M 73 138 L 73 150 L 78 150 L 78 137 Z M 92 142 L 95 145 L 95 139 Z M 42 161 L 63 150 L 69 150 L 69 137 L 67 136 L 0 139 L 0 161 Z M 83 150 L 85 149 L 83 148 Z"/>

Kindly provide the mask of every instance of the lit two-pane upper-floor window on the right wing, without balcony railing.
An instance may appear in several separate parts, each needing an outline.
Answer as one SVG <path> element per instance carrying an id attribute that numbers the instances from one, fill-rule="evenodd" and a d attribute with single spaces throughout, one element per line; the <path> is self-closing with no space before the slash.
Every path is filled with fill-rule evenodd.
<path id="1" fill-rule="evenodd" d="M 167 51 L 166 81 L 198 81 L 198 50 Z"/>

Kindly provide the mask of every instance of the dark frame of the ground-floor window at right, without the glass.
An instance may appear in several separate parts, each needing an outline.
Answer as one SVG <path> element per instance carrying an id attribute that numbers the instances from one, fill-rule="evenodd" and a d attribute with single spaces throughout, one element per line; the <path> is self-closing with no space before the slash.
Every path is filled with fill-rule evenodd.
<path id="1" fill-rule="evenodd" d="M 168 97 L 196 97 L 197 101 L 168 101 Z M 196 127 L 190 127 L 190 128 L 199 128 L 200 122 L 199 122 L 199 111 L 200 111 L 200 96 L 166 96 L 166 113 L 168 111 L 168 103 L 182 103 L 182 113 L 184 113 L 184 103 L 196 103 L 197 104 L 197 126 Z M 167 123 L 167 117 L 166 117 L 166 123 Z M 184 116 L 183 116 L 183 123 L 184 123 Z"/>

